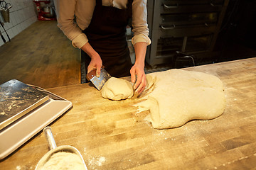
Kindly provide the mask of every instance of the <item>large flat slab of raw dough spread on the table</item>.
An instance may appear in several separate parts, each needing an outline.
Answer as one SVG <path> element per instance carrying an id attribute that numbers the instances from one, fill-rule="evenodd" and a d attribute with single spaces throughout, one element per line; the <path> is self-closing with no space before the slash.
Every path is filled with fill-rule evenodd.
<path id="1" fill-rule="evenodd" d="M 210 74 L 170 69 L 146 74 L 146 101 L 139 111 L 149 109 L 145 120 L 153 128 L 177 128 L 189 120 L 210 120 L 225 109 L 223 83 Z"/>

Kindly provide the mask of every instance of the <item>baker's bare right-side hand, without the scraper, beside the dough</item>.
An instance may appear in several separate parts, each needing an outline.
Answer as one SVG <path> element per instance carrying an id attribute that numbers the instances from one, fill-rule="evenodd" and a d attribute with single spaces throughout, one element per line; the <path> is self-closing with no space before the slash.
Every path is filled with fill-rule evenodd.
<path id="1" fill-rule="evenodd" d="M 134 64 L 134 66 L 130 70 L 130 73 L 132 83 L 135 83 L 137 76 L 137 81 L 134 84 L 135 93 L 141 94 L 146 87 L 146 75 L 144 72 L 144 65 Z"/>

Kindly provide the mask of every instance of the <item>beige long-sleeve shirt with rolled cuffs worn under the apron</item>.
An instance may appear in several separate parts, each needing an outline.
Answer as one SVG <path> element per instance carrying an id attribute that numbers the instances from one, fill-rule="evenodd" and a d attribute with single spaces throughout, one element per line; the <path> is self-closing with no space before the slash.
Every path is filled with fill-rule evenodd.
<path id="1" fill-rule="evenodd" d="M 74 47 L 81 48 L 88 42 L 82 33 L 90 24 L 96 0 L 54 0 L 57 11 L 58 27 L 72 40 Z M 102 0 L 103 6 L 126 8 L 127 0 Z M 134 0 L 132 3 L 132 43 L 146 42 L 149 39 L 149 28 L 146 23 L 146 0 Z M 75 18 L 75 22 L 74 22 Z"/>

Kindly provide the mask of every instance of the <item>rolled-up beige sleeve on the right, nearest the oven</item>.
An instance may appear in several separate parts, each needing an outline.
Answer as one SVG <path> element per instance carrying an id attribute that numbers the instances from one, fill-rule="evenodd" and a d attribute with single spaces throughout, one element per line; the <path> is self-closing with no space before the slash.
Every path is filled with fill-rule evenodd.
<path id="1" fill-rule="evenodd" d="M 137 42 L 146 42 L 147 45 L 151 44 L 149 38 L 149 28 L 146 22 L 146 0 L 134 0 L 132 4 L 132 44 Z"/>

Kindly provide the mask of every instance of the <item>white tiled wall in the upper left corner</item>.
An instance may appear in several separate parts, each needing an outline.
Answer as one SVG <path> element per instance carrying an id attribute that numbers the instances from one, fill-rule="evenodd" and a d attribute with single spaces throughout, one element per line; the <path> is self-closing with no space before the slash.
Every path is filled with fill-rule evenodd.
<path id="1" fill-rule="evenodd" d="M 37 21 L 37 13 L 36 7 L 33 0 L 5 0 L 11 4 L 10 8 L 10 23 L 4 23 L 4 28 L 9 34 L 10 38 L 14 38 L 18 33 L 21 33 L 22 30 L 31 26 L 32 23 Z M 8 38 L 4 29 L 0 26 L 0 31 L 6 42 Z M 4 42 L 0 38 L 0 46 L 3 45 Z"/>

